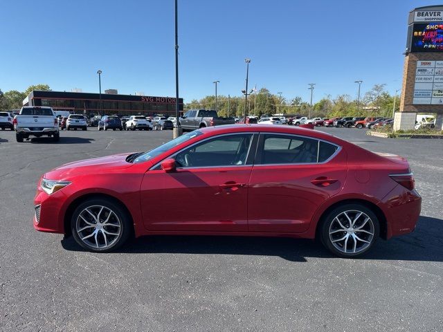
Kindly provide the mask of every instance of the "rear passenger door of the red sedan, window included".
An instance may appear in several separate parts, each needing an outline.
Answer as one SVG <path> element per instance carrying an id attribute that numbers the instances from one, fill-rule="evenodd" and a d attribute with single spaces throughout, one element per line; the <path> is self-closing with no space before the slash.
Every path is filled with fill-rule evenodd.
<path id="1" fill-rule="evenodd" d="M 338 194 L 345 151 L 305 136 L 261 133 L 248 191 L 249 232 L 305 232 L 317 208 Z"/>

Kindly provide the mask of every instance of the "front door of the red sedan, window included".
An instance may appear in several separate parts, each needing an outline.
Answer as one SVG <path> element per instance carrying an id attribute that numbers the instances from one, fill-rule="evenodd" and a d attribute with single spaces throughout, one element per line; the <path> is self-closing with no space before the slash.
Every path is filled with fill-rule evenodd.
<path id="1" fill-rule="evenodd" d="M 247 190 L 253 134 L 228 134 L 173 156 L 176 172 L 155 167 L 141 185 L 147 230 L 247 231 Z M 254 150 L 255 151 L 255 150 Z"/>

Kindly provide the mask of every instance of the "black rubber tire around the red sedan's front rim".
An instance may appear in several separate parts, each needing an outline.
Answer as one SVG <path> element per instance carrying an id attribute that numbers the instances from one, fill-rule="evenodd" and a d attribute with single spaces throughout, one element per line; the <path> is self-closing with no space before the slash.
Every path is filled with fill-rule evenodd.
<path id="1" fill-rule="evenodd" d="M 90 208 L 93 206 L 103 206 L 106 209 L 112 210 L 118 220 L 120 221 L 120 232 L 119 235 L 116 237 L 113 244 L 107 246 L 106 248 L 97 248 L 96 246 L 91 246 L 88 243 L 85 243 L 80 238 L 80 235 L 77 232 L 76 223 L 77 219 L 79 218 L 79 215 L 84 209 Z M 91 209 L 90 209 L 91 210 Z M 105 218 L 104 214 L 103 216 L 100 215 L 100 220 L 102 221 L 102 218 Z M 80 219 L 79 219 L 80 220 Z M 91 220 L 90 220 L 91 221 Z M 81 221 L 79 221 L 81 222 Z M 112 226 L 109 226 L 113 228 Z M 106 230 L 105 228 L 103 228 Z M 113 228 L 112 230 L 108 231 L 114 231 L 117 232 L 118 228 Z M 97 229 L 94 229 L 93 232 L 96 231 L 98 233 L 98 241 L 104 240 L 103 238 L 103 232 L 98 231 Z M 132 234 L 134 233 L 134 228 L 132 225 L 132 220 L 129 214 L 126 212 L 126 210 L 117 202 L 111 200 L 111 199 L 105 199 L 105 198 L 97 198 L 97 199 L 88 199 L 87 201 L 84 201 L 83 203 L 80 203 L 77 208 L 75 208 L 72 216 L 71 216 L 71 232 L 73 234 L 73 238 L 75 242 L 77 242 L 82 248 L 89 250 L 91 252 L 110 252 L 112 250 L 116 250 L 120 246 L 123 246 L 123 244 L 129 239 L 129 237 L 132 237 Z M 101 238 L 99 238 L 101 235 Z M 99 243 L 100 246 L 100 243 Z"/>

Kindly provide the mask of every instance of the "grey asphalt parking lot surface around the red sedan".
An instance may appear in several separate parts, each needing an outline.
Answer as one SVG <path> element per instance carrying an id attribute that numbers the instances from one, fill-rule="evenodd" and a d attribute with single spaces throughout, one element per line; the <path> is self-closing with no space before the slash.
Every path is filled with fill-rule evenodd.
<path id="1" fill-rule="evenodd" d="M 39 176 L 150 149 L 172 131 L 62 131 L 58 143 L 0 131 L 0 330 L 443 331 L 443 140 L 320 130 L 408 158 L 423 196 L 413 234 L 380 240 L 364 259 L 244 237 L 143 237 L 119 252 L 85 252 L 33 229 Z"/>

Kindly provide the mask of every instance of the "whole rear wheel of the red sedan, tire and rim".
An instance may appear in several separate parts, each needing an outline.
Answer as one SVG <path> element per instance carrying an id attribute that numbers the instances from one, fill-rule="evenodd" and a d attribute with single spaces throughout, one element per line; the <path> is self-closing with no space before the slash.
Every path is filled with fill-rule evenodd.
<path id="1" fill-rule="evenodd" d="M 338 206 L 320 226 L 323 245 L 334 255 L 358 257 L 372 248 L 379 236 L 377 216 L 361 204 Z"/>

